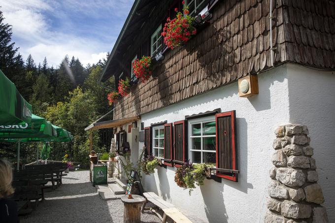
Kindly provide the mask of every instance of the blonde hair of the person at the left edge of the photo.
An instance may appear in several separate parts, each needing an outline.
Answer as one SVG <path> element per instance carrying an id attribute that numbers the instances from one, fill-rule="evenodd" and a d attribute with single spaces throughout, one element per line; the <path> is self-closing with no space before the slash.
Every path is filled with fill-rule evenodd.
<path id="1" fill-rule="evenodd" d="M 0 159 L 0 198 L 14 193 L 12 187 L 12 166 L 6 159 Z"/>

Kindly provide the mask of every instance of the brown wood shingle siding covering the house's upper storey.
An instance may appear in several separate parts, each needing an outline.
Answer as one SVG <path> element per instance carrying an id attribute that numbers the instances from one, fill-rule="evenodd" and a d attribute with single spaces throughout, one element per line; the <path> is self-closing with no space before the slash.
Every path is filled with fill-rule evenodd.
<path id="1" fill-rule="evenodd" d="M 157 3 L 140 32 L 146 38 L 138 39 L 157 28 L 168 2 Z M 153 70 L 155 78 L 137 83 L 115 103 L 114 119 L 142 115 L 271 67 L 269 0 L 220 0 L 212 13 L 210 24 L 185 46 L 167 50 Z M 274 0 L 272 42 L 275 66 L 334 68 L 335 1 Z M 130 63 L 135 51 L 130 52 L 122 63 Z M 122 67 L 120 60 L 114 67 Z"/>

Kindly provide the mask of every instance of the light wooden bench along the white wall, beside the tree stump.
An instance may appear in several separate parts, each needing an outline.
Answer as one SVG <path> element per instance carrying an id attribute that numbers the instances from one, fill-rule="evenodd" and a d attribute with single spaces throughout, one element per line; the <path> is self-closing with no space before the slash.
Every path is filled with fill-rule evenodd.
<path id="1" fill-rule="evenodd" d="M 183 215 L 178 209 L 176 209 L 173 204 L 163 200 L 156 193 L 145 192 L 143 193 L 143 196 L 145 197 L 145 202 L 142 206 L 142 213 L 144 212 L 144 209 L 147 209 L 145 205 L 148 201 L 150 201 L 155 206 L 163 210 L 164 216 L 162 218 L 162 216 L 158 214 L 154 209 L 149 208 L 162 220 L 163 223 L 167 222 L 168 217 L 171 218 L 175 223 L 192 223 L 185 215 Z"/>

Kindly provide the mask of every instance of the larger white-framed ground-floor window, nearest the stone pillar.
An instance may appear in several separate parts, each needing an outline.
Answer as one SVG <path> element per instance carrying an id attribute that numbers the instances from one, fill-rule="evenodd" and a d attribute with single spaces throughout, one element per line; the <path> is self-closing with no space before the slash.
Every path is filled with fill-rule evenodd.
<path id="1" fill-rule="evenodd" d="M 203 117 L 188 121 L 189 158 L 193 163 L 216 163 L 215 117 Z"/>

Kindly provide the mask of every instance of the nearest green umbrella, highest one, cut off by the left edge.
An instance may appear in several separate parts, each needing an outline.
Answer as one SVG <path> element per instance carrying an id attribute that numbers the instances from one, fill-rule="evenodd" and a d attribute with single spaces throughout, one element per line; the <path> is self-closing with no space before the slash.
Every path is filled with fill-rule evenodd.
<path id="1" fill-rule="evenodd" d="M 30 123 L 32 105 L 30 105 L 0 70 L 0 125 Z"/>

